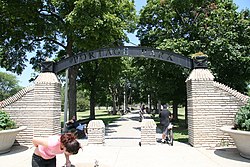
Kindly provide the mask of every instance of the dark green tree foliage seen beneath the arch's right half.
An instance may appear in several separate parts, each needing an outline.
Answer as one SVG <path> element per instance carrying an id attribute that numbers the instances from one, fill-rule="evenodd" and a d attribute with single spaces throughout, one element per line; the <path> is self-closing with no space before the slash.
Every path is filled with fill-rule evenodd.
<path id="1" fill-rule="evenodd" d="M 147 97 L 150 95 L 155 109 L 159 101 L 162 104 L 173 103 L 176 109 L 178 104 L 185 104 L 185 80 L 188 70 L 154 59 L 134 59 L 133 63 L 136 71 L 139 71 L 136 78 L 141 88 L 139 92 L 141 102 L 147 103 Z M 177 113 L 174 116 L 177 116 Z"/>

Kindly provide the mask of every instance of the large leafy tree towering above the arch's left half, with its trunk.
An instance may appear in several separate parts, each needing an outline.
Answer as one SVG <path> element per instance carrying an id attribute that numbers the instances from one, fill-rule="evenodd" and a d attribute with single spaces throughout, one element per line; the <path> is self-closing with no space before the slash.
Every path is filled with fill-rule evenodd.
<path id="1" fill-rule="evenodd" d="M 0 1 L 0 65 L 21 73 L 27 52 L 30 62 L 55 55 L 60 60 L 75 53 L 128 41 L 125 31 L 135 27 L 134 2 L 130 0 L 32 0 Z M 69 116 L 76 111 L 78 66 L 69 69 Z"/>

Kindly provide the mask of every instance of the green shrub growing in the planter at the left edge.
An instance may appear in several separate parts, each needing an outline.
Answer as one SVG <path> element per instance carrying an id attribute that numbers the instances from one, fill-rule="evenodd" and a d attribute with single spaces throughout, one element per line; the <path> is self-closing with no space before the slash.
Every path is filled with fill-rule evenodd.
<path id="1" fill-rule="evenodd" d="M 10 119 L 6 112 L 0 110 L 0 131 L 15 128 L 16 123 Z"/>

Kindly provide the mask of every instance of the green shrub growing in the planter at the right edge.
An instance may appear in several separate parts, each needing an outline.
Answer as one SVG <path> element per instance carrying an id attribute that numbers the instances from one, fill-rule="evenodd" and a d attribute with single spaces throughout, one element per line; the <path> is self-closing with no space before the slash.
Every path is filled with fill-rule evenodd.
<path id="1" fill-rule="evenodd" d="M 250 131 L 250 100 L 236 113 L 234 127 L 239 130 Z"/>

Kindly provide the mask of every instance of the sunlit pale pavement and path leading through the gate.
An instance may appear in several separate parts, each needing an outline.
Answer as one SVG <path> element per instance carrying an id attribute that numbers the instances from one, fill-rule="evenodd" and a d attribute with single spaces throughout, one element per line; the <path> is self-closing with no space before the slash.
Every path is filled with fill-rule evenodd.
<path id="1" fill-rule="evenodd" d="M 174 146 L 157 143 L 140 147 L 138 117 L 136 112 L 127 114 L 106 127 L 104 145 L 88 145 L 86 139 L 79 140 L 83 149 L 70 157 L 72 164 L 75 167 L 250 167 L 250 160 L 242 158 L 236 148 L 194 148 L 179 142 L 174 142 Z M 160 136 L 157 134 L 157 138 Z M 0 155 L 0 166 L 30 167 L 33 150 L 13 147 L 9 153 Z M 58 155 L 58 167 L 64 162 L 64 155 Z"/>

